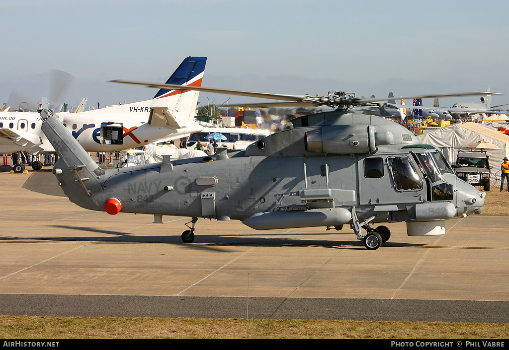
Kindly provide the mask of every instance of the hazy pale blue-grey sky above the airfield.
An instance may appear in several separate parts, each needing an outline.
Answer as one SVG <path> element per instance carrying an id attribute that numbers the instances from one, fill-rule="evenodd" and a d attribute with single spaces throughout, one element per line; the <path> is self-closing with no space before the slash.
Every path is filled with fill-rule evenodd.
<path id="1" fill-rule="evenodd" d="M 203 86 L 215 88 L 385 97 L 491 85 L 509 94 L 502 0 L 0 0 L 0 13 L 0 103 L 13 92 L 50 96 L 52 69 L 74 76 L 61 101 L 74 106 L 150 99 L 156 90 L 106 81 L 164 82 L 190 55 L 208 57 Z M 459 101 L 478 99 L 440 105 Z M 493 97 L 504 103 L 509 96 Z"/>

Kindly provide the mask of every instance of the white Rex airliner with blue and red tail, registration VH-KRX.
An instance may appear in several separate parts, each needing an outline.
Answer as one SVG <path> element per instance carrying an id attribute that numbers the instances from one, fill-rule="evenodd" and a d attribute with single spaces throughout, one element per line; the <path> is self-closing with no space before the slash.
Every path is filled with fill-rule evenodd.
<path id="1" fill-rule="evenodd" d="M 201 86 L 207 57 L 186 57 L 167 83 Z M 88 110 L 57 113 L 59 119 L 88 152 L 112 152 L 199 132 L 194 121 L 199 92 L 161 89 L 152 100 Z M 41 131 L 38 112 L 0 112 L 0 153 L 26 151 L 54 153 Z M 42 167 L 37 161 L 35 170 Z M 15 164 L 14 171 L 24 167 Z"/>

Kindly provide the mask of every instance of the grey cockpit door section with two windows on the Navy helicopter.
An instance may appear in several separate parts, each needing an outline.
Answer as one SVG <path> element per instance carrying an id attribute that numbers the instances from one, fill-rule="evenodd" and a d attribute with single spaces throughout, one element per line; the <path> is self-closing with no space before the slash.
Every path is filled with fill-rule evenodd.
<path id="1" fill-rule="evenodd" d="M 359 163 L 361 205 L 394 205 L 426 199 L 426 181 L 408 154 L 374 156 Z"/>

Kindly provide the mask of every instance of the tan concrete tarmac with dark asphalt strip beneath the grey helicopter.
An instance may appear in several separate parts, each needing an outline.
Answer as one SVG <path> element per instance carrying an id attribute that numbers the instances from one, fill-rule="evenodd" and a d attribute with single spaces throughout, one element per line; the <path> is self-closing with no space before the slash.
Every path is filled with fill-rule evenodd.
<path id="1" fill-rule="evenodd" d="M 509 322 L 506 216 L 449 220 L 433 237 L 387 224 L 376 251 L 348 225 L 257 231 L 207 219 L 184 244 L 190 218 L 89 211 L 49 171 L 5 170 L 0 314 Z"/>

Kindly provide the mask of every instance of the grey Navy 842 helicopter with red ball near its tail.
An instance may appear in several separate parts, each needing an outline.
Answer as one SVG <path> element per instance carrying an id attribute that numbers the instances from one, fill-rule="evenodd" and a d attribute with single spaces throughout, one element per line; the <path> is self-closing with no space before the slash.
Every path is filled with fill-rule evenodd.
<path id="1" fill-rule="evenodd" d="M 390 230 L 383 225 L 373 228 L 375 223 L 405 221 L 409 236 L 443 235 L 445 220 L 483 211 L 486 193 L 457 178 L 438 149 L 419 143 L 397 123 L 349 110 L 383 99 L 345 92 L 291 96 L 184 88 L 336 110 L 300 116 L 291 121 L 291 128 L 263 137 L 244 151 L 218 149 L 213 156 L 186 160 L 163 156 L 162 163 L 107 170 L 90 158 L 51 110 L 42 110 L 41 128 L 60 155 L 52 171 L 69 199 L 112 215 L 151 214 L 154 222 L 162 222 L 163 215 L 189 216 L 181 236 L 185 243 L 194 241 L 195 223 L 202 217 L 241 220 L 257 230 L 341 230 L 347 224 L 369 250 L 390 238 Z M 281 102 L 262 105 L 276 104 Z M 153 118 L 164 118 L 153 112 Z"/>

